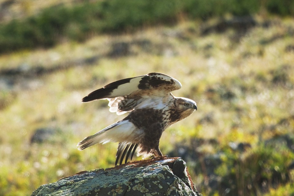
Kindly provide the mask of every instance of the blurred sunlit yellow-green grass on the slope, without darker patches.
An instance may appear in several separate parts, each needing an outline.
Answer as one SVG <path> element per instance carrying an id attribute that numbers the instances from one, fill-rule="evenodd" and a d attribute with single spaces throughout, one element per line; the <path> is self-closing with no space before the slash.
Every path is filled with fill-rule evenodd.
<path id="1" fill-rule="evenodd" d="M 175 144 L 189 146 L 190 139 L 200 138 L 215 139 L 219 146 L 205 144 L 193 148 L 203 154 L 223 150 L 227 156 L 232 153 L 229 142 L 244 142 L 252 146 L 252 150 L 242 155 L 245 161 L 240 164 L 245 167 L 250 163 L 246 157 L 261 156 L 258 152 L 262 151 L 259 147 L 262 140 L 293 131 L 294 58 L 293 52 L 285 52 L 285 47 L 294 42 L 292 37 L 284 36 L 268 44 L 261 43 L 285 33 L 285 25 L 294 27 L 293 20 L 279 22 L 281 26 L 252 28 L 237 43 L 231 40 L 233 30 L 201 36 L 198 32 L 201 22 L 184 21 L 174 27 L 101 35 L 85 43 L 68 42 L 48 50 L 1 56 L 1 70 L 58 69 L 37 76 L 17 76 L 13 88 L 1 93 L 0 100 L 5 102 L 1 106 L 0 130 L 5 134 L 0 135 L 0 194 L 30 195 L 44 183 L 82 170 L 113 167 L 116 143 L 98 144 L 81 152 L 76 144 L 125 115 L 110 113 L 106 100 L 82 103 L 81 99 L 107 83 L 149 72 L 175 77 L 183 87 L 173 94 L 191 98 L 198 106 L 198 111 L 163 133 L 160 149 L 164 154 L 175 150 Z M 130 45 L 133 54 L 107 56 L 112 43 L 134 40 L 150 41 L 151 49 L 133 44 Z M 98 58 L 92 64 L 79 63 L 94 56 Z M 280 123 L 283 119 L 287 123 Z M 58 137 L 31 144 L 36 129 L 47 127 L 61 130 Z M 283 152 L 281 157 L 292 156 L 288 151 Z M 233 155 L 238 157 L 237 153 Z M 236 157 L 223 158 L 228 164 Z M 197 160 L 186 161 L 190 169 Z M 225 174 L 230 169 L 220 165 L 217 172 Z M 190 174 L 196 184 L 205 179 L 205 174 L 193 169 Z M 268 194 L 277 191 L 278 195 L 282 190 L 282 186 L 277 190 L 273 187 Z M 209 194 L 208 190 L 200 191 Z"/>

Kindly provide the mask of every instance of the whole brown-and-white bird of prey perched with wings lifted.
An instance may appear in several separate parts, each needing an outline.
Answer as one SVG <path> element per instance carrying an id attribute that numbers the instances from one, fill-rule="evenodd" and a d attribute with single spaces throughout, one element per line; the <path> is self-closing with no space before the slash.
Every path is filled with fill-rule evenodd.
<path id="1" fill-rule="evenodd" d="M 86 137 L 77 144 L 78 150 L 97 143 L 119 142 L 115 165 L 118 162 L 121 165 L 124 158 L 126 163 L 129 156 L 132 160 L 136 149 L 137 155 L 143 158 L 163 157 L 159 150 L 162 132 L 197 110 L 193 100 L 171 94 L 181 87 L 181 83 L 170 76 L 149 73 L 107 84 L 88 94 L 82 102 L 107 99 L 110 112 L 130 113 L 123 120 Z"/>

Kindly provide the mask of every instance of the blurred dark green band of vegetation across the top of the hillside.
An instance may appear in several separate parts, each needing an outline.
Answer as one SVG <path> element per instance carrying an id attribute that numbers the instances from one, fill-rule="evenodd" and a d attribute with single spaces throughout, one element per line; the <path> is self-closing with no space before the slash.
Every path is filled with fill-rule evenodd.
<path id="1" fill-rule="evenodd" d="M 0 26 L 0 53 L 51 47 L 61 40 L 84 41 L 99 33 L 132 31 L 138 27 L 190 19 L 243 16 L 260 9 L 281 16 L 294 15 L 294 2 L 255 0 L 110 0 L 48 7 L 38 15 Z"/>

